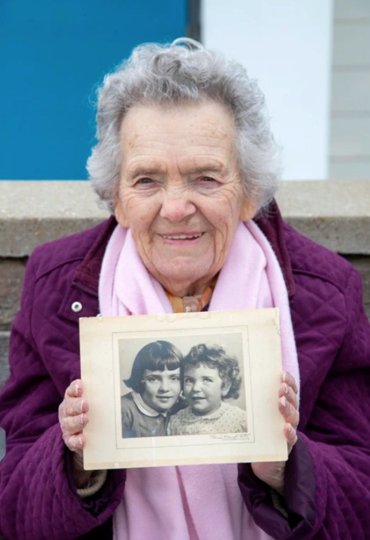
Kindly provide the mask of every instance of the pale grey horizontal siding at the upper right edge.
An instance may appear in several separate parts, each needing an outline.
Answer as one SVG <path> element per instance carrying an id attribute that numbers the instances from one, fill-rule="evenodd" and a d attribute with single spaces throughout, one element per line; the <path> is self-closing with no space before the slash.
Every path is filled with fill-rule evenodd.
<path id="1" fill-rule="evenodd" d="M 370 178 L 370 0 L 335 0 L 329 177 Z"/>

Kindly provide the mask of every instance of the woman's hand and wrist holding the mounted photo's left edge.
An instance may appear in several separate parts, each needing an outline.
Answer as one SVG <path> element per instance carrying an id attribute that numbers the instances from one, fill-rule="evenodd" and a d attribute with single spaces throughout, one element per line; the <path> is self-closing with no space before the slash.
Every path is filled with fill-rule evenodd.
<path id="1" fill-rule="evenodd" d="M 73 452 L 72 475 L 78 488 L 82 487 L 92 474 L 92 471 L 84 470 L 82 460 L 82 450 L 86 444 L 82 430 L 89 422 L 86 414 L 88 410 L 89 403 L 83 397 L 82 381 L 76 379 L 65 390 L 58 417 L 63 441 Z"/>

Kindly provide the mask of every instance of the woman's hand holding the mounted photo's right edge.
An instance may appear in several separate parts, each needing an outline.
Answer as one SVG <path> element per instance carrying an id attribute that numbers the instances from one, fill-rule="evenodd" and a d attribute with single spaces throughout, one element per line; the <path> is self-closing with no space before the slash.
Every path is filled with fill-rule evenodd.
<path id="1" fill-rule="evenodd" d="M 278 391 L 278 407 L 280 414 L 285 420 L 284 435 L 287 442 L 288 454 L 297 442 L 296 430 L 299 422 L 297 394 L 298 387 L 294 377 L 288 372 L 283 372 Z M 285 464 L 285 461 L 251 463 L 255 476 L 281 494 L 284 492 Z"/>

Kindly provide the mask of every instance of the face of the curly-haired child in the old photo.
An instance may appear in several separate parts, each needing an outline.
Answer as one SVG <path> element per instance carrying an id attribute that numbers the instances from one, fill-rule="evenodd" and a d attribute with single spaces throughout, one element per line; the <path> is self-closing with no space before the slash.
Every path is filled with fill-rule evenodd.
<path id="1" fill-rule="evenodd" d="M 218 368 L 205 364 L 186 366 L 184 371 L 184 395 L 193 413 L 205 415 L 213 413 L 226 396 L 230 384 L 223 384 Z"/>

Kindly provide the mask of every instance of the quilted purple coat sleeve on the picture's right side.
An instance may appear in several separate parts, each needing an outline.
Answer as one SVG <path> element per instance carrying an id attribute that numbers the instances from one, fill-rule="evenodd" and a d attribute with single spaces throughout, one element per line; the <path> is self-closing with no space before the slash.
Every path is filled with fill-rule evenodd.
<path id="1" fill-rule="evenodd" d="M 370 325 L 359 275 L 345 292 L 347 326 L 304 431 L 288 458 L 284 504 L 239 465 L 239 485 L 255 522 L 278 539 L 367 538 L 370 527 Z"/>

